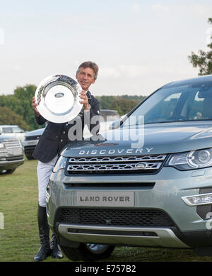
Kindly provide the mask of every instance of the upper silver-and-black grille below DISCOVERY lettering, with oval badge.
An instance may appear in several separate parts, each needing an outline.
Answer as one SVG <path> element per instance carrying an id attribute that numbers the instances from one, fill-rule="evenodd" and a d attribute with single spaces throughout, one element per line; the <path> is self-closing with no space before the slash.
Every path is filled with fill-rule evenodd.
<path id="1" fill-rule="evenodd" d="M 114 157 L 70 158 L 66 172 L 71 174 L 155 173 L 166 155 L 137 155 Z"/>

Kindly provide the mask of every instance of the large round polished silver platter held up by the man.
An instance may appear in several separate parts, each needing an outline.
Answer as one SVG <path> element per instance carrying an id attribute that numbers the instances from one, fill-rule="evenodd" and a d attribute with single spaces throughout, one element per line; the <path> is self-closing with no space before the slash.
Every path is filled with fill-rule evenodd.
<path id="1" fill-rule="evenodd" d="M 80 104 L 81 86 L 64 74 L 49 76 L 40 82 L 35 91 L 37 111 L 47 121 L 66 123 L 83 108 Z"/>

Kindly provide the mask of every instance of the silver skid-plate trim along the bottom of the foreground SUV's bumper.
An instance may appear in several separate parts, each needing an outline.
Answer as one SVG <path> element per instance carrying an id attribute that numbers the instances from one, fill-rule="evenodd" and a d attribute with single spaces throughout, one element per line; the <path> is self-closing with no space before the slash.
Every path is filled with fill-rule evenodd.
<path id="1" fill-rule="evenodd" d="M 102 227 L 59 224 L 58 233 L 80 243 L 111 243 L 151 247 L 189 248 L 170 228 Z"/>

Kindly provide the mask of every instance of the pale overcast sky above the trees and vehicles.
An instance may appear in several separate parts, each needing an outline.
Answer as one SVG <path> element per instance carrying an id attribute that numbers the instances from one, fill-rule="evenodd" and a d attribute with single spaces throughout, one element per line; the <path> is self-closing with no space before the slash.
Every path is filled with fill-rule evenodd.
<path id="1" fill-rule="evenodd" d="M 75 78 L 96 62 L 90 91 L 148 95 L 196 77 L 192 51 L 207 50 L 211 0 L 0 0 L 0 94 L 51 74 Z"/>

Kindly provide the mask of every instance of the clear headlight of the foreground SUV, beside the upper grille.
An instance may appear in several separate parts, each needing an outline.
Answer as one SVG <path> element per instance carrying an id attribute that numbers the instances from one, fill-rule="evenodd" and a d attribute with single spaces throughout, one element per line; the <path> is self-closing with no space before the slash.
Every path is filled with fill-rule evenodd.
<path id="1" fill-rule="evenodd" d="M 179 170 L 194 170 L 202 167 L 211 167 L 212 148 L 172 154 L 167 160 L 166 166 L 176 167 Z"/>

